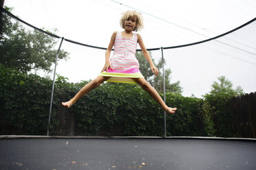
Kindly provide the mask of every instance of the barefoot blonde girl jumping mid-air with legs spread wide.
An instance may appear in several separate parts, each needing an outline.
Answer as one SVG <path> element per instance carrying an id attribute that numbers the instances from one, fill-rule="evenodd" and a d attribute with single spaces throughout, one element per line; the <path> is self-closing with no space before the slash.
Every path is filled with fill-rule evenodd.
<path id="1" fill-rule="evenodd" d="M 142 53 L 151 66 L 151 71 L 158 75 L 158 69 L 154 66 L 149 53 L 142 41 L 140 34 L 134 34 L 143 28 L 142 15 L 136 11 L 127 11 L 122 14 L 120 26 L 125 29 L 123 32 L 114 32 L 111 36 L 109 46 L 105 53 L 105 66 L 96 79 L 86 84 L 70 101 L 63 102 L 62 105 L 70 108 L 78 99 L 89 93 L 90 90 L 100 86 L 103 82 L 138 83 L 145 89 L 153 99 L 162 107 L 167 114 L 174 113 L 177 108 L 169 108 L 158 94 L 140 73 L 138 60 L 135 57 L 137 43 L 140 45 Z M 114 46 L 114 56 L 111 56 L 111 49 Z"/>

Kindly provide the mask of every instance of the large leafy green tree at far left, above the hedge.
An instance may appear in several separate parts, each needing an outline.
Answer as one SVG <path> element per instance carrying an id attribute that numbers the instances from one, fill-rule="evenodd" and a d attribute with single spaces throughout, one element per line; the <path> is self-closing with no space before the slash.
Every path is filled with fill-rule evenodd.
<path id="1" fill-rule="evenodd" d="M 6 10 L 11 10 L 6 8 Z M 16 68 L 23 73 L 32 69 L 51 71 L 56 58 L 56 39 L 34 29 L 26 30 L 17 21 L 3 13 L 1 17 L 3 27 L 0 40 L 0 64 L 9 68 Z M 56 29 L 54 30 L 56 32 Z M 68 53 L 61 50 L 58 59 L 67 58 Z"/>

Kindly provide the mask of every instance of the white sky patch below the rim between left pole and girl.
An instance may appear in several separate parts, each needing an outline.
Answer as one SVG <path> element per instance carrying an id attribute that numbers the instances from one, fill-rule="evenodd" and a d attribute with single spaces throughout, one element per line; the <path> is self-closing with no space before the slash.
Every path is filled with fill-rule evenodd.
<path id="1" fill-rule="evenodd" d="M 63 49 L 70 53 L 68 60 L 58 62 L 58 74 L 69 78 L 70 82 L 92 80 L 105 64 L 105 50 L 63 42 Z"/>

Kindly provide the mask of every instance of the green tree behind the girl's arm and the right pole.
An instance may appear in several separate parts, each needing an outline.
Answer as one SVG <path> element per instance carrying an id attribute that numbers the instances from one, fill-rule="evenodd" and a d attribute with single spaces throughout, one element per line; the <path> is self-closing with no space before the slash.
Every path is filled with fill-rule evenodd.
<path id="1" fill-rule="evenodd" d="M 149 51 L 149 55 L 151 56 L 151 51 Z M 145 77 L 145 80 L 151 84 L 156 90 L 158 90 L 159 93 L 163 93 L 162 90 L 162 60 L 158 61 L 158 64 L 155 63 L 155 61 L 152 58 L 153 64 L 158 68 L 159 74 L 158 76 L 154 76 L 151 69 L 149 62 L 147 62 L 145 56 L 143 56 L 142 52 L 136 53 L 136 58 L 138 59 L 138 62 L 140 63 L 140 72 Z M 165 60 L 164 60 L 165 64 Z M 173 93 L 182 93 L 182 88 L 180 87 L 180 81 L 175 82 L 171 84 L 171 69 L 165 69 L 164 70 L 164 78 L 165 78 L 165 90 L 167 93 L 173 92 Z"/>

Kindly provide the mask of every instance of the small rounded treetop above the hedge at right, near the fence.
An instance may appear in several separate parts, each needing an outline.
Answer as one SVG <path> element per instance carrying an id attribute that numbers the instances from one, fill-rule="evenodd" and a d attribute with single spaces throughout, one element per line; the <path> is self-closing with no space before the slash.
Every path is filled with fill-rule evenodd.
<path id="1" fill-rule="evenodd" d="M 223 94 L 223 95 L 230 95 L 230 96 L 237 96 L 237 95 L 242 95 L 244 93 L 243 89 L 241 86 L 237 86 L 237 88 L 233 89 L 232 82 L 227 80 L 226 77 L 221 76 L 217 78 L 220 83 L 218 82 L 213 82 L 211 85 L 211 94 L 212 95 L 217 95 L 217 94 Z"/>

